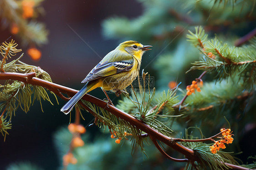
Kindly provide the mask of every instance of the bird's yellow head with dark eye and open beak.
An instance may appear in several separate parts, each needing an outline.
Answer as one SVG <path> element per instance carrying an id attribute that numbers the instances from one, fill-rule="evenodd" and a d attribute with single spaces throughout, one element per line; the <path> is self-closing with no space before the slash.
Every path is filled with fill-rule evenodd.
<path id="1" fill-rule="evenodd" d="M 152 47 L 151 45 L 142 45 L 138 41 L 124 41 L 120 45 L 118 45 L 118 50 L 124 50 L 128 52 L 129 54 L 133 55 L 137 59 L 141 60 L 141 57 L 145 51 L 151 50 L 148 49 L 149 47 Z"/>

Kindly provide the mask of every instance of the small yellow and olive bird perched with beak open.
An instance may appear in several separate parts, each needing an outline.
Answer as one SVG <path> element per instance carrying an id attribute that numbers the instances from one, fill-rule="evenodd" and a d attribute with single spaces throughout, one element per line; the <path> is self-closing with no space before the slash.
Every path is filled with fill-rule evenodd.
<path id="1" fill-rule="evenodd" d="M 145 51 L 151 50 L 151 45 L 142 45 L 138 41 L 128 40 L 119 44 L 115 50 L 110 51 L 82 80 L 86 83 L 61 108 L 66 115 L 72 110 L 83 95 L 91 90 L 101 87 L 108 98 L 108 104 L 112 104 L 105 90 L 114 92 L 117 96 L 136 79 Z"/>

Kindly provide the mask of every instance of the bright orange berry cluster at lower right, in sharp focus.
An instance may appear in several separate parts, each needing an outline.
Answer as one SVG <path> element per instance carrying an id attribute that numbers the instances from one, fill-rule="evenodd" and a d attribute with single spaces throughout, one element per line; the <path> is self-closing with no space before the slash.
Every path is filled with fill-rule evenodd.
<path id="1" fill-rule="evenodd" d="M 231 144 L 233 142 L 234 139 L 231 137 L 231 135 L 233 134 L 231 134 L 232 132 L 230 131 L 231 131 L 230 129 L 227 129 L 227 130 L 225 130 L 225 128 L 220 129 L 220 132 L 222 132 L 221 134 L 223 138 L 221 140 L 215 141 L 215 144 L 210 146 L 211 153 L 216 154 L 217 151 L 220 150 L 220 148 L 222 149 L 226 148 L 225 144 Z"/>

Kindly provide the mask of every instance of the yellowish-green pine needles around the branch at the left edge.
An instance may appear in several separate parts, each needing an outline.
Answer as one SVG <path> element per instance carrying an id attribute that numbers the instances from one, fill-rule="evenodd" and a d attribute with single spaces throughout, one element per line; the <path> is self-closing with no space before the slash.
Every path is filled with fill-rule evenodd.
<path id="1" fill-rule="evenodd" d="M 0 61 L 1 72 L 34 72 L 37 78 L 51 82 L 51 77 L 46 71 L 42 70 L 40 67 L 21 62 L 20 58 L 23 54 L 16 60 L 6 63 L 8 58 L 15 56 L 16 53 L 21 51 L 17 50 L 16 47 L 17 44 L 14 40 L 11 40 L 10 43 L 5 42 L 0 46 L 0 54 L 3 56 L 3 60 Z M 54 93 L 52 94 L 54 95 Z M 4 85 L 0 85 L 0 133 L 3 136 L 8 135 L 7 130 L 11 129 L 12 124 L 10 122 L 13 115 L 15 115 L 15 111 L 20 108 L 25 113 L 28 112 L 35 100 L 39 100 L 40 104 L 41 100 L 47 100 L 51 103 L 49 95 L 41 86 L 25 84 L 17 80 L 6 80 Z"/>

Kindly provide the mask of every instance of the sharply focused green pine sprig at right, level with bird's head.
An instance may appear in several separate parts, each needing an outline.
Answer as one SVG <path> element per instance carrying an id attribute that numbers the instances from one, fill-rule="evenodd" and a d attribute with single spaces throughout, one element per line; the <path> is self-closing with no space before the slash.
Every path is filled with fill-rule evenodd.
<path id="1" fill-rule="evenodd" d="M 190 70 L 216 73 L 217 80 L 237 75 L 247 85 L 255 83 L 256 38 L 252 38 L 249 45 L 235 47 L 223 43 L 217 37 L 208 40 L 202 27 L 195 27 L 195 30 L 195 34 L 189 31 L 187 38 L 203 55 L 200 61 L 192 63 Z"/>

